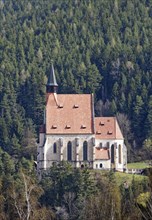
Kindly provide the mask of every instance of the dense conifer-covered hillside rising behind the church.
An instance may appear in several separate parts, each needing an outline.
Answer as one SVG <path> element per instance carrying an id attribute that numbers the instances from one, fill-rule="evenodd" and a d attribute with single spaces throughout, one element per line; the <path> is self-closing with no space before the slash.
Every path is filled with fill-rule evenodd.
<path id="1" fill-rule="evenodd" d="M 93 92 L 132 147 L 151 140 L 151 17 L 151 0 L 1 1 L 0 146 L 32 146 L 52 60 L 59 93 Z"/>

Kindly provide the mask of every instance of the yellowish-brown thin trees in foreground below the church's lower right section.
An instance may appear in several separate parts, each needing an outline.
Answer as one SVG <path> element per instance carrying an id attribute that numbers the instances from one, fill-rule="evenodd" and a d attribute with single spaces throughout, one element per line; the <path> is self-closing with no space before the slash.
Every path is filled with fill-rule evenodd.
<path id="1" fill-rule="evenodd" d="M 121 196 L 114 173 L 107 176 L 95 173 L 95 178 L 97 191 L 85 201 L 80 219 L 121 219 Z"/>

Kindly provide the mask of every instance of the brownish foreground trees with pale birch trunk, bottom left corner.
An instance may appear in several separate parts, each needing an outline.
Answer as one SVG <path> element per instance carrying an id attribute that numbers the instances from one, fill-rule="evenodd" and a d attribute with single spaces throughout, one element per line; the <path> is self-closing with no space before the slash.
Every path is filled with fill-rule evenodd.
<path id="1" fill-rule="evenodd" d="M 0 149 L 0 219 L 54 219 L 39 203 L 42 194 L 33 161 L 12 159 Z"/>

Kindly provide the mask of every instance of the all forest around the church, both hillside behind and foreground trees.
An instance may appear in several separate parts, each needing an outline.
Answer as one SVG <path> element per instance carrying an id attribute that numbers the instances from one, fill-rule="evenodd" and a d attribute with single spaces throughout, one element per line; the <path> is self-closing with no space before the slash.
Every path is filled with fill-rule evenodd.
<path id="1" fill-rule="evenodd" d="M 52 167 L 36 177 L 45 84 L 94 93 L 116 116 L 128 160 L 152 157 L 152 0 L 0 0 L 0 219 L 151 219 L 152 174 Z M 106 201 L 106 202 L 105 202 Z"/>

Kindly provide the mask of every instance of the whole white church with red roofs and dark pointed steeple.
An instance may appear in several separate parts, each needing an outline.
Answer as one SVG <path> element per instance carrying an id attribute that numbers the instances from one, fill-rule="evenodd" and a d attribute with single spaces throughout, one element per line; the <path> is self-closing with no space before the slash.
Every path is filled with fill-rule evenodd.
<path id="1" fill-rule="evenodd" d="M 123 171 L 127 150 L 117 119 L 95 117 L 93 94 L 57 94 L 57 88 L 52 66 L 39 133 L 38 172 L 60 161 L 74 168 Z"/>

